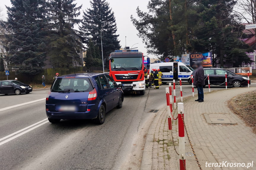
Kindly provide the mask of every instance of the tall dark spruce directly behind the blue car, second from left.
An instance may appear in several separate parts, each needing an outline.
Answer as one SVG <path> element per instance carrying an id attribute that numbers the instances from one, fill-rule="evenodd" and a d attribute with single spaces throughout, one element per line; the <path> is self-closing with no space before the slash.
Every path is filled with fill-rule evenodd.
<path id="1" fill-rule="evenodd" d="M 50 27 L 48 36 L 48 55 L 54 68 L 69 69 L 82 64 L 82 37 L 74 25 L 81 22 L 76 19 L 82 6 L 76 7 L 75 0 L 50 0 Z"/>

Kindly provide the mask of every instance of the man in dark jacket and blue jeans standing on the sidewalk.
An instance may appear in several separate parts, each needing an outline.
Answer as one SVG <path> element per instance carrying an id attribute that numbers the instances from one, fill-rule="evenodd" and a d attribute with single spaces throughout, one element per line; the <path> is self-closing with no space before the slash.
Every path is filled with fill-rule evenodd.
<path id="1" fill-rule="evenodd" d="M 197 67 L 197 69 L 195 70 L 194 85 L 197 87 L 198 91 L 198 99 L 195 101 L 203 102 L 203 86 L 205 85 L 205 83 L 202 61 L 195 61 L 195 67 Z"/>

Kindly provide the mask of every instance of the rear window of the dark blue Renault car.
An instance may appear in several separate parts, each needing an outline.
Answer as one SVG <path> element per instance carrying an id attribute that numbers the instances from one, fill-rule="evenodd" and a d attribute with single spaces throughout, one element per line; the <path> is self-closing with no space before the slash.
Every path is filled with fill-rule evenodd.
<path id="1" fill-rule="evenodd" d="M 89 92 L 93 87 L 88 78 L 57 78 L 52 92 Z"/>

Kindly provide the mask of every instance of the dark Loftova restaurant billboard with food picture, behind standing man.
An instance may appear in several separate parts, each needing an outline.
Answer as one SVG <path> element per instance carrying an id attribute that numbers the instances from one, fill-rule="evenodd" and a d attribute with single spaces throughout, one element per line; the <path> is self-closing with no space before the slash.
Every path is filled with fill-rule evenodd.
<path id="1" fill-rule="evenodd" d="M 212 67 L 212 52 L 207 53 L 191 53 L 190 66 L 193 67 L 194 62 L 200 60 L 203 62 L 203 67 Z"/>

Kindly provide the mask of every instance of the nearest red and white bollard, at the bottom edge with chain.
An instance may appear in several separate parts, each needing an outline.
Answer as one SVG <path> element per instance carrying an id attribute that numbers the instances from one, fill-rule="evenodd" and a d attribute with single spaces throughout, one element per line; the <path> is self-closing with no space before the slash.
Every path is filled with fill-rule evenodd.
<path id="1" fill-rule="evenodd" d="M 184 119 L 184 104 L 183 103 L 178 103 L 179 169 L 180 170 L 185 170 L 186 169 L 186 160 L 185 160 L 185 131 L 184 131 L 184 123 L 183 123 L 182 117 Z"/>

